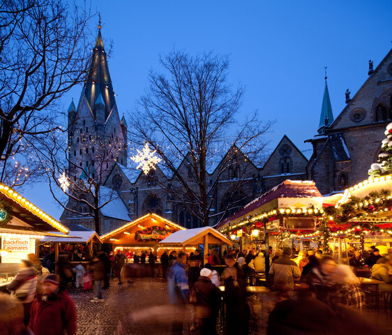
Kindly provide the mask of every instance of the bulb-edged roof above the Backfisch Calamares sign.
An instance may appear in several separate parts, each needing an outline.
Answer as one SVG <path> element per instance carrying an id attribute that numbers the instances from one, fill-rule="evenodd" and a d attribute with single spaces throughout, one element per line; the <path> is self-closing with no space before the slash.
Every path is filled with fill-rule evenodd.
<path id="1" fill-rule="evenodd" d="M 11 215 L 20 219 L 20 221 L 27 223 L 33 230 L 45 232 L 55 228 L 64 234 L 68 234 L 68 228 L 54 220 L 52 216 L 47 215 L 27 199 L 23 198 L 22 195 L 12 188 L 3 184 L 0 184 L 0 199 L 6 200 L 6 202 L 13 207 L 13 213 Z"/>

